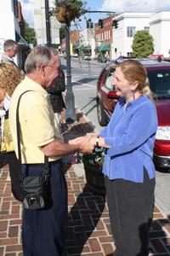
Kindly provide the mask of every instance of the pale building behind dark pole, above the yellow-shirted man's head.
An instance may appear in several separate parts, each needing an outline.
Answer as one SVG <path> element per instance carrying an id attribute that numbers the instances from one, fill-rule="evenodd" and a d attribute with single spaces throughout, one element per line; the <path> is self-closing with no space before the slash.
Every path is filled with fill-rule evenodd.
<path id="1" fill-rule="evenodd" d="M 49 1 L 49 10 L 54 8 L 54 1 Z M 46 36 L 46 20 L 45 20 L 45 1 L 34 1 L 34 27 L 36 31 L 37 44 L 47 44 Z M 50 35 L 51 43 L 59 44 L 59 21 L 54 17 L 50 17 Z"/>

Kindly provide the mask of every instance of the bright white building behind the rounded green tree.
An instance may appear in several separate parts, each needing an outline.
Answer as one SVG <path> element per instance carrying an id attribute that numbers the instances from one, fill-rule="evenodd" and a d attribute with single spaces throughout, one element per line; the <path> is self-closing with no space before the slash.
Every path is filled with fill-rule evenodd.
<path id="1" fill-rule="evenodd" d="M 157 13 L 123 13 L 117 15 L 114 20 L 118 22 L 118 28 L 113 29 L 113 42 L 111 45 L 111 57 L 131 55 L 135 32 L 146 30 L 154 39 L 154 55 L 170 56 L 170 11 Z"/>

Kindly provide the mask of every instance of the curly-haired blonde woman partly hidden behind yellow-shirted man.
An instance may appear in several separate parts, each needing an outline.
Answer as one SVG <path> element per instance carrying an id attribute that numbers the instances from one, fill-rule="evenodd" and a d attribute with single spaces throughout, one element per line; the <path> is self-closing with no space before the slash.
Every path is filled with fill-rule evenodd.
<path id="1" fill-rule="evenodd" d="M 18 67 L 14 66 L 13 63 L 10 61 L 0 63 L 0 118 L 2 140 L 4 132 L 4 121 L 5 119 L 8 119 L 10 98 L 14 92 L 15 87 L 20 84 L 22 79 L 23 75 L 20 73 Z M 2 148 L 2 150 L 3 149 L 4 148 Z M 9 150 L 13 150 L 13 148 L 9 148 Z M 22 195 L 20 192 L 20 180 L 17 175 L 17 172 L 19 171 L 18 160 L 14 154 L 14 151 L 4 152 L 1 154 L 1 159 L 4 160 L 4 163 L 8 162 L 12 193 L 17 200 L 21 200 Z"/>

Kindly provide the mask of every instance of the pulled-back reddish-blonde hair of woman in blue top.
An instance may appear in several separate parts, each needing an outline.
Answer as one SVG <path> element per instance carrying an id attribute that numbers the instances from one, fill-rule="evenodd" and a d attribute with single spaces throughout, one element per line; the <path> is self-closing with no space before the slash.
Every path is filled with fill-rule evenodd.
<path id="1" fill-rule="evenodd" d="M 122 73 L 128 82 L 133 83 L 135 81 L 138 81 L 139 92 L 141 92 L 143 95 L 147 95 L 150 100 L 153 101 L 153 96 L 149 85 L 149 79 L 147 78 L 147 71 L 139 61 L 122 61 L 121 63 L 117 64 L 117 67 L 121 68 Z"/>

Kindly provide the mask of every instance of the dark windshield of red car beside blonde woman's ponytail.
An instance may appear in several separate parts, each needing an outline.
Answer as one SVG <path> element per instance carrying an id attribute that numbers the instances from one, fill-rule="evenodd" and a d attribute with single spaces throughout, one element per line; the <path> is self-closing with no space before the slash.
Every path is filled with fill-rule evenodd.
<path id="1" fill-rule="evenodd" d="M 148 71 L 148 79 L 157 98 L 170 97 L 170 68 Z"/>

